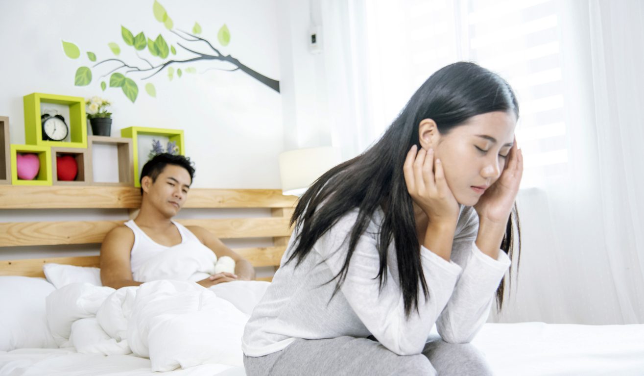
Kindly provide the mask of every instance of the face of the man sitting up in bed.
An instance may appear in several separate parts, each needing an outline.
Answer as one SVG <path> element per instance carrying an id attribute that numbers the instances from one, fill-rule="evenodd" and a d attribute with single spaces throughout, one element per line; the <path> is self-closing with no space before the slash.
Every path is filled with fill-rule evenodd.
<path id="1" fill-rule="evenodd" d="M 187 170 L 175 164 L 167 164 L 156 181 L 152 182 L 150 177 L 144 177 L 142 181 L 147 201 L 168 218 L 174 217 L 184 206 L 191 183 Z"/>

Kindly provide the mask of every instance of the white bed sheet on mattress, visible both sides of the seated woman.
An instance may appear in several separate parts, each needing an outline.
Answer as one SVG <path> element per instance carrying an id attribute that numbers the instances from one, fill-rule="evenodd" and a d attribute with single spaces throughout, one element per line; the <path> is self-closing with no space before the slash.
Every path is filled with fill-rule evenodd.
<path id="1" fill-rule="evenodd" d="M 572 325 L 522 322 L 485 324 L 473 344 L 497 376 L 642 376 L 644 324 Z M 0 352 L 0 376 L 244 376 L 241 367 L 204 364 L 151 372 L 150 361 L 133 355 L 85 355 L 66 349 Z"/>

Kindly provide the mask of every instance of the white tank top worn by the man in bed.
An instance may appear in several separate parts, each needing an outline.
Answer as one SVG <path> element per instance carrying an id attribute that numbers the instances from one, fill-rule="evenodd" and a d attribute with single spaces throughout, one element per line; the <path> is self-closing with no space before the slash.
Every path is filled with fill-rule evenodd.
<path id="1" fill-rule="evenodd" d="M 181 234 L 181 242 L 179 244 L 175 244 L 173 247 L 180 245 L 184 246 L 188 243 L 195 243 L 195 246 L 205 247 L 204 244 L 199 241 L 196 235 L 185 228 L 185 226 L 180 223 L 176 223 L 175 221 L 171 222 L 176 226 L 176 228 L 179 230 L 179 233 Z M 132 230 L 132 232 L 134 232 L 134 244 L 129 255 L 129 263 L 132 272 L 138 270 L 138 268 L 140 268 L 140 266 L 142 266 L 151 257 L 157 255 L 158 253 L 164 252 L 169 248 L 172 248 L 153 241 L 151 237 L 147 236 L 147 233 L 145 233 L 143 230 L 141 230 L 140 227 L 137 226 L 133 219 L 130 219 L 124 224 L 128 226 Z"/>

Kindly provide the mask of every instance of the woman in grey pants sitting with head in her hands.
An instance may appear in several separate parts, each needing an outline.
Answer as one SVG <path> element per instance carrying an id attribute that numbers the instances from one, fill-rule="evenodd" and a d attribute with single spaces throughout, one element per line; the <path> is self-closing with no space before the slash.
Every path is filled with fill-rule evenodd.
<path id="1" fill-rule="evenodd" d="M 491 374 L 466 343 L 511 264 L 517 117 L 506 81 L 451 64 L 320 177 L 246 325 L 247 374 Z"/>

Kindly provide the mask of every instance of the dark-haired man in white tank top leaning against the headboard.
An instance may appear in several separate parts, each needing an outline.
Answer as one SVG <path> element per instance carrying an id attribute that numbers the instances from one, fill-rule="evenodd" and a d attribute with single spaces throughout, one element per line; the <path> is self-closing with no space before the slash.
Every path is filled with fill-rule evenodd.
<path id="1" fill-rule="evenodd" d="M 148 161 L 141 172 L 141 208 L 133 221 L 117 226 L 106 235 L 100 247 L 100 279 L 104 286 L 138 286 L 133 271 L 156 253 L 171 246 L 207 247 L 219 259 L 235 261 L 235 273 L 217 273 L 198 281 L 208 288 L 222 282 L 254 279 L 252 265 L 199 226 L 184 227 L 171 221 L 187 199 L 194 168 L 183 155 L 162 153 Z"/>

